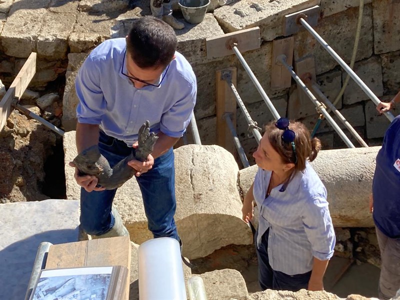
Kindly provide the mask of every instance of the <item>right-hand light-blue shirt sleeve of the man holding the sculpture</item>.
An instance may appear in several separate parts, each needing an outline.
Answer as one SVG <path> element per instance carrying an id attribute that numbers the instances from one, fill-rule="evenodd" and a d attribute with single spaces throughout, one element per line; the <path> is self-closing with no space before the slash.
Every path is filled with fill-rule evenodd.
<path id="1" fill-rule="evenodd" d="M 193 108 L 196 103 L 197 85 L 193 81 L 186 80 L 179 88 L 179 99 L 172 107 L 162 114 L 160 130 L 171 137 L 181 137 L 190 122 Z"/>

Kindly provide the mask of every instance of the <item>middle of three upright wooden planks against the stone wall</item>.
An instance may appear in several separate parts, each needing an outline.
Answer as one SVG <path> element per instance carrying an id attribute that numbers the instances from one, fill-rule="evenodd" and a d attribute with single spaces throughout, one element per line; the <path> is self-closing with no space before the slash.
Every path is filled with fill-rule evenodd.
<path id="1" fill-rule="evenodd" d="M 272 41 L 272 70 L 271 70 L 271 88 L 283 89 L 290 87 L 291 75 L 285 66 L 277 62 L 276 58 L 280 54 L 286 56 L 288 65 L 293 61 L 294 37 L 286 37 Z"/>

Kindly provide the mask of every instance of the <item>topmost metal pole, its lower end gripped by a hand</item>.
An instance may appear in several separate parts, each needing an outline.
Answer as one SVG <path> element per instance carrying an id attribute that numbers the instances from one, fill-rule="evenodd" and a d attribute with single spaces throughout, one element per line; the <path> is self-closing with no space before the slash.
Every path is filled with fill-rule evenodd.
<path id="1" fill-rule="evenodd" d="M 351 78 L 358 84 L 359 87 L 368 95 L 368 97 L 378 105 L 380 100 L 376 97 L 376 95 L 369 89 L 369 87 L 358 77 L 358 75 L 344 62 L 343 59 L 328 45 L 326 41 L 314 30 L 312 27 L 302 18 L 300 17 L 298 21 L 303 25 L 305 29 L 308 30 L 309 33 L 322 45 L 322 47 L 336 60 L 340 66 L 351 76 Z M 384 112 L 385 116 L 391 122 L 394 119 L 393 114 L 390 111 Z"/>

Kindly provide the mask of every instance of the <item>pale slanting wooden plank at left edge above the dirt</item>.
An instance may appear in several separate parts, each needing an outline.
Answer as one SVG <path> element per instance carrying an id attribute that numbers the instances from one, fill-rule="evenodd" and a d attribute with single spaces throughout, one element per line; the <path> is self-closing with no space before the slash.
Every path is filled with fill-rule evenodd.
<path id="1" fill-rule="evenodd" d="M 32 52 L 0 101 L 0 130 L 4 127 L 11 113 L 12 99 L 19 99 L 22 96 L 35 72 L 36 53 Z"/>

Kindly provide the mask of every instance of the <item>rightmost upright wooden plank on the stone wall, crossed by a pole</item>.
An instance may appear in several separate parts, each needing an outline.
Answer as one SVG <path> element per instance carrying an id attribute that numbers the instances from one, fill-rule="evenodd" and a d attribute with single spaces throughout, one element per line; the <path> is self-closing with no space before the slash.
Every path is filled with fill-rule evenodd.
<path id="1" fill-rule="evenodd" d="M 307 85 L 308 89 L 310 88 L 310 83 L 316 81 L 315 75 L 315 60 L 313 56 L 308 56 L 296 60 L 294 62 L 294 68 L 297 76 Z M 300 103 L 310 101 L 306 93 L 302 90 L 302 88 L 297 84 L 297 94 L 298 100 Z"/>

